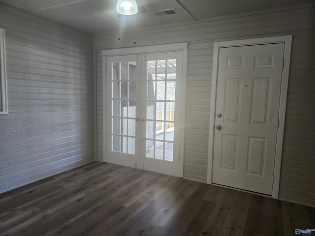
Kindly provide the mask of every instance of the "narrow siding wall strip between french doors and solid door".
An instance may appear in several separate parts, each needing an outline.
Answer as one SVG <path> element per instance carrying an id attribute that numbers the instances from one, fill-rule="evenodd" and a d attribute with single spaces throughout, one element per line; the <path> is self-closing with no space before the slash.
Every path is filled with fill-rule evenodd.
<path id="1" fill-rule="evenodd" d="M 184 178 L 207 182 L 214 41 L 188 47 Z"/>

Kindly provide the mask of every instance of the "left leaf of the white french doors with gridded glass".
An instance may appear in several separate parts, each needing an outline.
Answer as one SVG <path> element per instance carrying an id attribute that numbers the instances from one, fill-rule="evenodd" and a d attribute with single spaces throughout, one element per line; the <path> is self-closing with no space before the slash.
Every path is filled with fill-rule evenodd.
<path id="1" fill-rule="evenodd" d="M 107 58 L 107 162 L 136 166 L 140 155 L 138 56 Z"/>

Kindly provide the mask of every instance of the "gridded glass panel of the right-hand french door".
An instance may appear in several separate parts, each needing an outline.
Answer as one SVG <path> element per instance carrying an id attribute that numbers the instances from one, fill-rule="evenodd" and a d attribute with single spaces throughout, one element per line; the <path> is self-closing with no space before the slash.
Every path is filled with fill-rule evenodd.
<path id="1" fill-rule="evenodd" d="M 146 157 L 173 161 L 176 59 L 147 61 Z"/>

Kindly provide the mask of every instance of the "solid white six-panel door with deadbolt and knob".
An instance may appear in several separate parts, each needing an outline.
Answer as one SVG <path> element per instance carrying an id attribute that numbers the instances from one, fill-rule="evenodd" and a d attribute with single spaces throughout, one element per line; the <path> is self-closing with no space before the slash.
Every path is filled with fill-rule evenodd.
<path id="1" fill-rule="evenodd" d="M 284 43 L 220 48 L 213 183 L 272 194 Z"/>

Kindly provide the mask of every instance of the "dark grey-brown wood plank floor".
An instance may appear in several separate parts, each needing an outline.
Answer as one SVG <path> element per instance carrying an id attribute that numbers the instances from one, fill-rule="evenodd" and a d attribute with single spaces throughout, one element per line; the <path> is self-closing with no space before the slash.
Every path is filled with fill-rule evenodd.
<path id="1" fill-rule="evenodd" d="M 315 229 L 315 208 L 101 162 L 0 195 L 0 236 L 293 236 L 296 228 Z"/>

